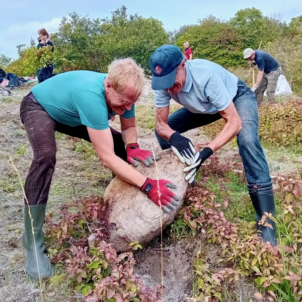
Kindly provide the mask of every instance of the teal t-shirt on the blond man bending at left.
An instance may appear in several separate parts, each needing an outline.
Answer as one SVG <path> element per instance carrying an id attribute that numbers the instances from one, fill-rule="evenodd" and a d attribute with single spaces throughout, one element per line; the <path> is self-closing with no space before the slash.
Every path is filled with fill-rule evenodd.
<path id="1" fill-rule="evenodd" d="M 59 123 L 71 127 L 109 128 L 104 80 L 107 73 L 75 70 L 60 73 L 31 90 L 40 105 Z M 115 115 L 115 113 L 114 113 Z M 134 105 L 122 117 L 132 118 Z"/>

